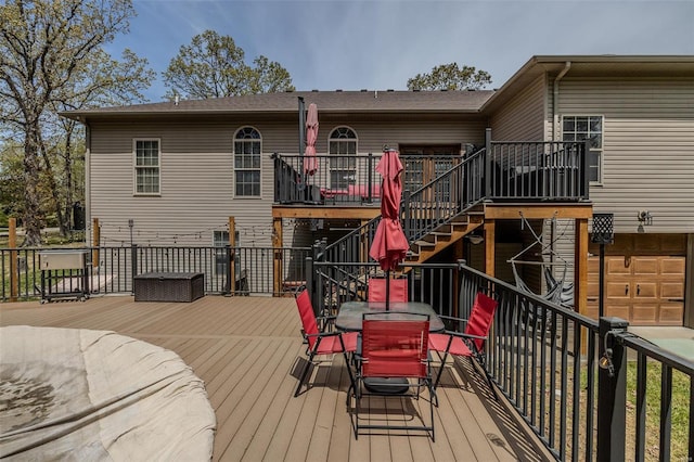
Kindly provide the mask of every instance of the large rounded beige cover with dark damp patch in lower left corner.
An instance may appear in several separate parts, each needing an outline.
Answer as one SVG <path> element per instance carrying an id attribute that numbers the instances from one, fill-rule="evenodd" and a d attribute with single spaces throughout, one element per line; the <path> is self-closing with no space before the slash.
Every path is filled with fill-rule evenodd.
<path id="1" fill-rule="evenodd" d="M 172 351 L 114 332 L 0 328 L 0 459 L 211 459 L 215 412 Z"/>

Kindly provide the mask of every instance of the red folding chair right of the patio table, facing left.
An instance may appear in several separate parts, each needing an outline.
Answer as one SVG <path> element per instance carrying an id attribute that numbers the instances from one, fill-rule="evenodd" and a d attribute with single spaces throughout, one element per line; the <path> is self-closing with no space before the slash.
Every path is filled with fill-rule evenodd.
<path id="1" fill-rule="evenodd" d="M 498 398 L 497 392 L 492 384 L 491 375 L 489 375 L 489 372 L 485 367 L 484 354 L 485 344 L 487 337 L 489 336 L 489 330 L 491 329 L 491 322 L 494 318 L 497 305 L 497 300 L 488 297 L 481 292 L 478 292 L 475 296 L 473 310 L 470 313 L 468 319 L 440 316 L 441 319 L 450 320 L 457 326 L 460 326 L 462 323 L 464 323 L 465 329 L 463 332 L 446 331 L 442 334 L 435 333 L 429 335 L 429 349 L 436 351 L 439 359 L 441 360 L 441 367 L 438 370 L 438 374 L 436 374 L 434 388 L 438 386 L 438 383 L 441 380 L 441 374 L 444 372 L 444 367 L 446 365 L 448 356 L 462 356 L 471 359 L 474 358 L 477 360 L 481 369 L 485 371 L 485 377 L 489 383 L 489 388 L 494 395 L 494 398 Z"/>

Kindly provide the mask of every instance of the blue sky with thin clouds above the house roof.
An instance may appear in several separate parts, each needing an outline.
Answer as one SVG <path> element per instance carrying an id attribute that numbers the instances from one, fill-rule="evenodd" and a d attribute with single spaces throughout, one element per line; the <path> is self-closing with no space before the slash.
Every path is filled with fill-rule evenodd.
<path id="1" fill-rule="evenodd" d="M 130 48 L 160 75 L 206 29 L 233 37 L 248 63 L 282 64 L 297 90 L 407 89 L 457 62 L 501 87 L 536 54 L 694 54 L 694 0 L 133 0 Z M 159 101 L 160 78 L 146 93 Z"/>

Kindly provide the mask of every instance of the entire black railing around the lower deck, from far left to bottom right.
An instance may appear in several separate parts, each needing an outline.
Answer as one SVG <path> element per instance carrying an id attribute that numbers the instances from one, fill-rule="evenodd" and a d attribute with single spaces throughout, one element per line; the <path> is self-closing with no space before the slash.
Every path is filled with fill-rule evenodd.
<path id="1" fill-rule="evenodd" d="M 287 269 L 299 271 L 292 278 L 305 279 L 314 307 L 324 312 L 338 309 L 344 301 L 365 298 L 369 278 L 375 272 L 375 264 L 316 260 L 320 249 L 240 247 L 232 254 L 227 247 L 136 246 L 89 251 L 93 261 L 99 261 L 95 267 L 89 264 L 90 279 L 110 278 L 107 284 L 90 287 L 92 294 L 130 293 L 133 272 L 196 270 L 205 272 L 207 293 L 244 295 L 248 291 L 243 287 L 226 290 L 229 279 L 221 278 L 215 285 L 217 274 L 228 273 L 230 261 L 218 257 L 234 255 L 237 268 L 255 268 L 260 274 L 255 279 L 261 281 L 266 275 L 272 279 L 272 258 L 281 255 Z M 18 265 L 20 298 L 41 296 L 38 252 L 0 249 L 3 300 L 10 298 L 10 255 L 24 259 Z M 304 270 L 296 269 L 301 266 Z M 79 278 L 78 271 L 66 271 L 63 277 Z M 409 299 L 428 303 L 441 315 L 466 318 L 479 291 L 499 301 L 486 367 L 503 396 L 557 460 L 694 457 L 692 361 L 633 335 L 626 321 L 603 318 L 597 322 L 462 262 L 406 265 L 399 273 L 408 279 Z M 248 282 L 250 293 L 274 291 L 272 283 L 253 278 Z M 445 380 L 440 386 L 455 385 Z"/>

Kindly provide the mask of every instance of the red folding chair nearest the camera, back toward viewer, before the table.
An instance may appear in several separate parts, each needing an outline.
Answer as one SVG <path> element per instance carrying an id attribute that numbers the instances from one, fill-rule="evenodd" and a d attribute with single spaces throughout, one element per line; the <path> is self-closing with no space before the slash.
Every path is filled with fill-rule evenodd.
<path id="1" fill-rule="evenodd" d="M 355 398 L 354 423 L 355 438 L 359 438 L 361 428 L 370 429 L 402 429 L 425 431 L 434 440 L 434 400 L 436 392 L 432 383 L 428 360 L 429 321 L 426 315 L 408 315 L 408 320 L 390 319 L 397 313 L 364 315 L 362 322 L 361 343 L 357 350 L 356 381 L 350 387 Z M 402 313 L 399 315 L 402 317 Z M 412 317 L 412 319 L 409 319 Z M 372 386 L 370 380 L 382 380 Z M 404 381 L 394 381 L 403 378 Z M 377 386 L 377 388 L 375 388 Z M 415 388 L 414 393 L 402 393 Z M 364 396 L 397 397 L 410 396 L 419 399 L 421 388 L 429 390 L 429 421 L 430 425 L 388 425 L 362 424 L 360 422 L 361 399 Z M 348 392 L 349 396 L 349 392 Z"/>

